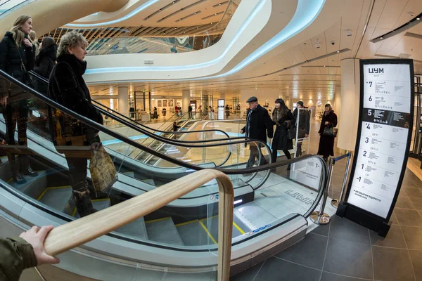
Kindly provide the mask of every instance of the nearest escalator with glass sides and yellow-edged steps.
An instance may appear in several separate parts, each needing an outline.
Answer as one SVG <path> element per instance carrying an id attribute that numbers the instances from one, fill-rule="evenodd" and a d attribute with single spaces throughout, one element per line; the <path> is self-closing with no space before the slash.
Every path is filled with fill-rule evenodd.
<path id="1" fill-rule="evenodd" d="M 18 185 L 11 181 L 13 163 L 2 157 L 1 235 L 10 236 L 32 225 L 58 226 L 79 216 L 68 182 L 68 166 L 58 152 L 60 148 L 53 145 L 51 139 L 50 125 L 57 120 L 49 112 L 60 110 L 65 115 L 75 117 L 98 129 L 103 136 L 118 140 L 132 149 L 148 152 L 168 163 L 171 169 L 183 170 L 180 174 L 204 169 L 198 164 L 184 162 L 143 146 L 67 110 L 4 72 L 0 72 L 0 75 L 27 91 L 31 104 L 27 148 L 4 145 L 0 150 L 26 155 L 33 169 L 38 171 L 38 176 L 25 176 L 27 182 Z M 1 132 L 4 132 L 2 123 Z M 244 159 L 248 155 L 241 155 L 241 147 L 245 143 L 254 143 L 267 150 L 260 157 L 270 160 L 267 145 L 253 140 L 205 144 L 205 148 L 214 145 L 231 153 L 229 161 L 215 169 L 230 176 L 235 189 L 232 274 L 302 239 L 307 231 L 306 218 L 319 204 L 326 185 L 325 163 L 321 157 L 314 155 L 245 169 Z M 77 155 L 79 152 L 84 152 L 83 148 L 75 147 L 72 155 L 81 157 Z M 113 161 L 117 168 L 130 167 L 126 164 L 127 158 L 118 159 L 113 155 Z M 124 169 L 117 169 L 120 171 L 119 181 L 108 192 L 92 197 L 94 207 L 105 209 L 148 191 L 146 186 L 151 190 L 169 181 L 165 174 L 159 173 L 148 178 L 148 171 L 140 171 L 145 167 L 136 166 L 139 171 L 127 171 L 145 175 L 142 180 L 124 175 Z M 130 184 L 129 179 L 132 180 Z M 260 184 L 255 185 L 255 182 Z M 91 195 L 94 194 L 91 192 Z M 58 267 L 98 280 L 177 280 L 181 277 L 214 280 L 217 270 L 218 201 L 217 183 L 211 181 L 158 211 L 60 255 Z"/>

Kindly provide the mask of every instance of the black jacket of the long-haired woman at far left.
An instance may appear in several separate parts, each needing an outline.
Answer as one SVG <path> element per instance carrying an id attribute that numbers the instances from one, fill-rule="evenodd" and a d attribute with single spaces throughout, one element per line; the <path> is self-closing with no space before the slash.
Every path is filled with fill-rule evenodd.
<path id="1" fill-rule="evenodd" d="M 25 83 L 28 77 L 23 71 L 22 62 L 27 71 L 33 70 L 34 57 L 34 46 L 27 47 L 22 44 L 22 46 L 18 47 L 15 39 L 13 39 L 13 33 L 6 32 L 0 42 L 0 70 Z M 10 84 L 4 79 L 0 79 L 0 98 L 8 95 L 9 88 Z"/>

